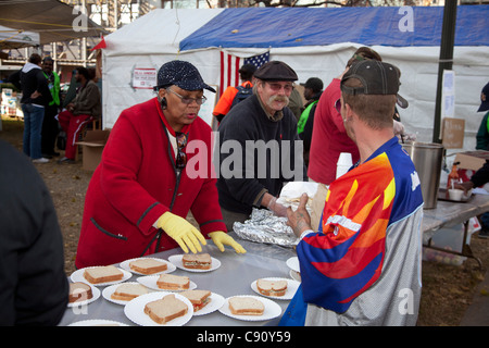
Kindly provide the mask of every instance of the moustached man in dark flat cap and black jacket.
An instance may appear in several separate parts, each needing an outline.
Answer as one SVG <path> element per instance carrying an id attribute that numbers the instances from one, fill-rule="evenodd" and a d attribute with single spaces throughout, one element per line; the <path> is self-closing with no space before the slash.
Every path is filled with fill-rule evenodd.
<path id="1" fill-rule="evenodd" d="M 283 185 L 305 177 L 302 150 L 296 153 L 296 145 L 301 142 L 296 117 L 287 108 L 292 84 L 297 80 L 296 72 L 284 62 L 269 61 L 254 73 L 254 77 L 253 96 L 233 108 L 218 127 L 217 149 L 223 149 L 226 144 L 240 146 L 239 154 L 231 156 L 222 150 L 216 160 L 221 169 L 217 178 L 220 204 L 228 229 L 235 222 L 248 220 L 253 207 L 267 208 L 276 215 L 285 216 L 286 208 L 277 202 Z M 259 148 L 247 149 L 250 145 Z M 271 149 L 266 150 L 267 147 Z M 241 163 L 227 167 L 231 159 Z"/>

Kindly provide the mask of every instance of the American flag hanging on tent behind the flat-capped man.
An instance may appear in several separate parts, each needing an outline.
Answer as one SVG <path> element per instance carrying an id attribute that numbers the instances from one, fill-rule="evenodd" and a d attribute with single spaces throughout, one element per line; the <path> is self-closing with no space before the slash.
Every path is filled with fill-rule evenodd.
<path id="1" fill-rule="evenodd" d="M 239 85 L 239 67 L 244 64 L 253 64 L 256 67 L 262 66 L 269 60 L 269 52 L 241 59 L 239 57 L 221 51 L 221 91 L 220 95 L 228 86 Z"/>

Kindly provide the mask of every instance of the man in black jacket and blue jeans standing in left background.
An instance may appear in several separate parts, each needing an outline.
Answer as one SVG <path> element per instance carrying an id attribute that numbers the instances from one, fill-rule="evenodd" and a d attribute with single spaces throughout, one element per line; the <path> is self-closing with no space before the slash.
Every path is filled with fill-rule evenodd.
<path id="1" fill-rule="evenodd" d="M 41 130 L 45 108 L 51 102 L 52 97 L 41 70 L 41 57 L 37 53 L 30 54 L 28 62 L 20 72 L 10 76 L 10 80 L 22 89 L 23 151 L 34 163 L 47 163 L 49 159 L 43 158 L 41 151 Z"/>

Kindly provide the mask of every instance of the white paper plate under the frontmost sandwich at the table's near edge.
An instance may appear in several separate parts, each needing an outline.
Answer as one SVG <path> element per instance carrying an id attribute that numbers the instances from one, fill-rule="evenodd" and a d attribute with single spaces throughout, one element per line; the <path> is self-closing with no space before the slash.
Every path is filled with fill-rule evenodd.
<path id="1" fill-rule="evenodd" d="M 181 326 L 185 325 L 193 315 L 193 306 L 192 303 L 181 295 L 174 294 L 175 297 L 181 301 L 184 301 L 188 307 L 188 312 L 184 316 L 176 318 L 166 324 L 158 324 L 154 322 L 148 314 L 145 313 L 145 306 L 148 302 L 155 301 L 162 299 L 163 297 L 170 295 L 171 293 L 151 293 L 141 295 L 136 297 L 134 300 L 130 300 L 124 307 L 124 314 L 134 322 L 135 324 L 141 326 Z"/>

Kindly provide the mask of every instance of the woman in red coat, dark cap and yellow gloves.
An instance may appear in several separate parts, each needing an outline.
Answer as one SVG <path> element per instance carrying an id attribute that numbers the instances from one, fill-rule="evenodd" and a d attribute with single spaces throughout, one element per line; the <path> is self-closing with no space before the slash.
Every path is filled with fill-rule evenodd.
<path id="1" fill-rule="evenodd" d="M 106 265 L 180 247 L 201 251 L 211 237 L 246 250 L 226 232 L 215 187 L 211 127 L 198 117 L 213 92 L 184 61 L 162 65 L 158 97 L 124 110 L 85 200 L 76 266 Z M 200 232 L 186 221 L 191 210 Z"/>

